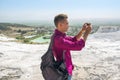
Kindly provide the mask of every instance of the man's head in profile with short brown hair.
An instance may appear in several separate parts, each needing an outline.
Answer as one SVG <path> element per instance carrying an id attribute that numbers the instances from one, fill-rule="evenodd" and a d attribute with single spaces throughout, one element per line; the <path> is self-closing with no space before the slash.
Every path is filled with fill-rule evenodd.
<path id="1" fill-rule="evenodd" d="M 66 32 L 68 30 L 68 20 L 66 14 L 58 14 L 54 18 L 54 24 L 62 32 Z"/>

